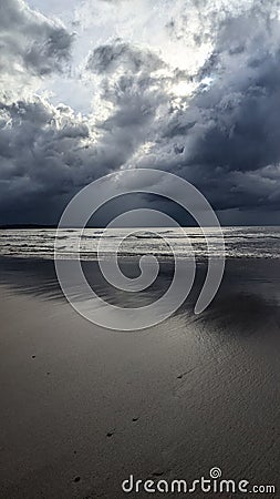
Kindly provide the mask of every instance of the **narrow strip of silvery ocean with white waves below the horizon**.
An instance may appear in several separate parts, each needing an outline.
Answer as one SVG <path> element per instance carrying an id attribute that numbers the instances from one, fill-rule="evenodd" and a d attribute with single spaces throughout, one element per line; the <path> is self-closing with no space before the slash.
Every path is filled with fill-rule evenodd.
<path id="1" fill-rule="evenodd" d="M 133 234 L 129 233 L 133 231 Z M 210 254 L 219 256 L 216 232 L 207 228 L 211 241 Z M 279 258 L 280 227 L 222 227 L 226 253 L 229 258 Z M 55 230 L 4 230 L 0 231 L 0 255 L 18 257 L 53 258 Z M 60 230 L 58 242 L 60 255 L 65 258 L 75 256 L 75 230 Z M 209 255 L 205 237 L 199 227 L 185 228 L 85 228 L 81 238 L 80 254 L 83 259 L 96 259 L 97 245 L 102 238 L 102 254 L 110 255 L 118 246 L 121 256 L 129 257 L 155 254 L 170 257 L 173 253 L 180 257 L 197 258 Z M 65 244 L 65 242 L 68 244 Z M 72 242 L 72 245 L 71 245 Z M 189 246 L 189 244 L 191 246 Z"/>

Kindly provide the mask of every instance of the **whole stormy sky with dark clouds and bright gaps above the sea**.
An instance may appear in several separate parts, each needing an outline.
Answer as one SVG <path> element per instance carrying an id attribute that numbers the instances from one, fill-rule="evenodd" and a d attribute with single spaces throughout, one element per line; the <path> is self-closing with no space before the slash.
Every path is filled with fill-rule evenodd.
<path id="1" fill-rule="evenodd" d="M 0 0 L 0 80 L 1 224 L 138 167 L 224 225 L 280 223 L 280 0 Z"/>

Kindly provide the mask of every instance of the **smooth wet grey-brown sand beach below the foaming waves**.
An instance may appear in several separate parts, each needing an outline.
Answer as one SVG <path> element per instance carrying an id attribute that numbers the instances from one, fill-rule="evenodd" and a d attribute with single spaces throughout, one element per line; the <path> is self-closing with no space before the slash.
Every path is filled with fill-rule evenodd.
<path id="1" fill-rule="evenodd" d="M 277 261 L 229 261 L 203 315 L 190 298 L 132 333 L 80 317 L 52 262 L 2 258 L 0 269 L 1 498 L 151 497 L 122 481 L 191 482 L 214 467 L 278 488 L 250 497 L 279 497 Z"/>

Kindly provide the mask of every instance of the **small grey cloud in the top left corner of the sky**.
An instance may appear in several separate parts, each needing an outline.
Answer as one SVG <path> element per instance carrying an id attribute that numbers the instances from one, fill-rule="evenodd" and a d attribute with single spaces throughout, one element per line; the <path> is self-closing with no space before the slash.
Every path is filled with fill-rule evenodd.
<path id="1" fill-rule="evenodd" d="M 0 0 L 0 71 L 43 75 L 69 61 L 73 37 L 22 0 Z"/>

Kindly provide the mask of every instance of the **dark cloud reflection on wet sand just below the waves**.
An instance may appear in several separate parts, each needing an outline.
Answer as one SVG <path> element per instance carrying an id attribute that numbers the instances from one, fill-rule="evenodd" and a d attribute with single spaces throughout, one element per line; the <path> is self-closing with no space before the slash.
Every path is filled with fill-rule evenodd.
<path id="1" fill-rule="evenodd" d="M 174 272 L 172 262 L 162 262 L 159 277 L 142 293 L 120 292 L 110 286 L 100 273 L 96 262 L 83 262 L 86 278 L 93 289 L 108 303 L 118 306 L 137 307 L 159 298 L 170 285 Z M 123 272 L 138 275 L 137 259 L 121 262 Z M 196 298 L 201 289 L 206 263 L 197 266 L 194 289 L 177 310 L 187 324 L 212 323 L 225 334 L 231 327 L 246 335 L 258 328 L 267 329 L 268 323 L 280 322 L 279 281 L 280 262 L 271 259 L 228 259 L 220 289 L 211 305 L 200 315 L 193 314 Z M 65 301 L 59 286 L 54 263 L 39 258 L 0 258 L 0 283 L 20 293 L 43 299 Z"/>

